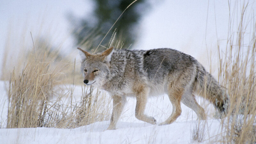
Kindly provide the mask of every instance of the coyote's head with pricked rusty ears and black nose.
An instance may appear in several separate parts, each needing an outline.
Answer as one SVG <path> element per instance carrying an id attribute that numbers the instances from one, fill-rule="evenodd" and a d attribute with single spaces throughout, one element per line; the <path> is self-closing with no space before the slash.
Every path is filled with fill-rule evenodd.
<path id="1" fill-rule="evenodd" d="M 100 88 L 109 77 L 110 59 L 114 47 L 100 54 L 90 54 L 79 47 L 77 49 L 82 58 L 81 71 L 84 76 L 84 84 Z"/>

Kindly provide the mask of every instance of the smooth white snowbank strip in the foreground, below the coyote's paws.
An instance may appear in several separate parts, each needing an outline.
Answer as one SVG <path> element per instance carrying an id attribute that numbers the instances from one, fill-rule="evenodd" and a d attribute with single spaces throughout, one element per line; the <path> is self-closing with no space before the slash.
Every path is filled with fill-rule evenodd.
<path id="1" fill-rule="evenodd" d="M 119 122 L 117 130 L 104 131 L 109 121 L 97 122 L 75 129 L 20 128 L 0 129 L 4 143 L 191 143 L 194 121 L 166 126 Z M 210 136 L 220 132 L 218 120 L 208 120 Z M 206 139 L 209 136 L 206 135 Z M 210 142 L 214 138 L 205 142 Z"/>

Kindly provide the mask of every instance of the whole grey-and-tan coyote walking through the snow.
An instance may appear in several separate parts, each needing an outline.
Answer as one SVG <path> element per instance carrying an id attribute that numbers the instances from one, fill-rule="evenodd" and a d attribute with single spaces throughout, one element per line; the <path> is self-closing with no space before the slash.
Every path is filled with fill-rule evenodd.
<path id="1" fill-rule="evenodd" d="M 180 102 L 199 119 L 206 119 L 194 94 L 211 101 L 220 114 L 227 111 L 228 95 L 190 55 L 169 48 L 131 51 L 111 47 L 98 54 L 78 49 L 84 84 L 106 90 L 113 98 L 108 130 L 116 129 L 127 96 L 136 98 L 135 117 L 150 124 L 156 124 L 156 119 L 144 114 L 144 109 L 148 97 L 154 95 L 167 94 L 172 103 L 171 116 L 159 125 L 171 124 L 180 116 Z"/>

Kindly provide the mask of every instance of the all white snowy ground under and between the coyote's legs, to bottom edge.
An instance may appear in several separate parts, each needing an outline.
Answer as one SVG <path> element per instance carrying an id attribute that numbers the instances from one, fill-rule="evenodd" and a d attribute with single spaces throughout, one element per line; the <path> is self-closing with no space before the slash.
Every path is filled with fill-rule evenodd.
<path id="1" fill-rule="evenodd" d="M 14 128 L 6 129 L 7 95 L 5 86 L 8 83 L 0 82 L 1 113 L 1 143 L 191 143 L 193 131 L 205 126 L 204 143 L 216 141 L 216 136 L 223 132 L 221 120 L 214 119 L 214 109 L 208 102 L 201 101 L 206 110 L 207 120 L 198 121 L 196 114 L 182 104 L 182 114 L 176 122 L 170 125 L 151 125 L 135 118 L 135 99 L 128 98 L 124 112 L 117 124 L 116 130 L 106 130 L 110 121 L 96 122 L 90 125 L 74 128 Z M 80 86 L 76 86 L 74 97 L 79 100 Z M 111 105 L 112 102 L 109 104 Z M 153 97 L 148 100 L 145 113 L 154 116 L 157 123 L 170 116 L 172 105 L 167 96 Z"/>

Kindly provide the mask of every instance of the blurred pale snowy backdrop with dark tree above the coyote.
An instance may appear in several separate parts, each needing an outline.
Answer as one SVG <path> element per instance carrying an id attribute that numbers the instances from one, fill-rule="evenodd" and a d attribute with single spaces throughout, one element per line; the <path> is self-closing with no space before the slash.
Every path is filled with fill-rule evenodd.
<path id="1" fill-rule="evenodd" d="M 0 58 L 17 58 L 21 47 L 49 45 L 60 57 L 77 55 L 76 47 L 95 51 L 108 30 L 132 0 L 2 0 Z M 247 1 L 246 1 L 247 2 Z M 218 45 L 225 49 L 229 21 L 237 25 L 244 1 L 138 0 L 116 22 L 97 52 L 111 37 L 124 49 L 173 48 L 198 59 L 208 70 L 217 66 Z M 250 8 L 255 6 L 248 1 Z M 255 11 L 252 11 L 255 13 Z M 248 18 L 253 20 L 253 18 Z M 254 26 L 248 25 L 247 29 Z M 21 50 L 22 49 L 22 50 Z M 8 51 L 8 55 L 6 54 Z M 217 59 L 216 59 L 217 60 Z M 210 63 L 210 61 L 212 61 Z M 11 66 L 11 65 L 10 65 Z M 1 66 L 2 69 L 3 65 Z M 214 70 L 212 71 L 214 72 Z"/>

